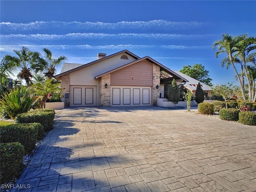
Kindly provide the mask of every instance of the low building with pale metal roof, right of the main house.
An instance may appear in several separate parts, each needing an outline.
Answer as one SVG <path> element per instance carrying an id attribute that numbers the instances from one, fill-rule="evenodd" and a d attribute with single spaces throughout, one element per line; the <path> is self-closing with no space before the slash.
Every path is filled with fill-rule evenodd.
<path id="1" fill-rule="evenodd" d="M 183 74 L 182 72 L 175 71 L 175 70 L 174 70 L 174 72 L 176 74 L 178 74 L 179 76 L 182 76 L 183 78 L 188 80 L 188 82 L 186 84 L 184 84 L 184 87 L 191 90 L 193 92 L 193 95 L 195 95 L 196 87 L 197 87 L 199 81 L 188 76 L 188 75 Z M 206 85 L 205 83 L 200 82 L 200 84 L 201 84 L 202 90 L 204 91 L 204 96 L 212 97 L 212 94 L 211 94 L 212 88 L 210 86 Z"/>

